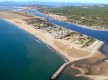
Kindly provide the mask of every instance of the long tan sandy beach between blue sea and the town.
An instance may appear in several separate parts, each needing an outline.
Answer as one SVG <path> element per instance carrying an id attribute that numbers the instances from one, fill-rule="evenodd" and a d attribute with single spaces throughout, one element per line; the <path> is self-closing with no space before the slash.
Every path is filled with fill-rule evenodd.
<path id="1" fill-rule="evenodd" d="M 0 12 L 0 17 L 36 36 L 44 43 L 48 44 L 50 47 L 56 50 L 58 53 L 60 53 L 60 55 L 66 57 L 69 61 L 74 61 L 77 59 L 79 60 L 94 54 L 94 50 L 77 48 L 75 47 L 75 45 L 70 46 L 70 44 L 64 42 L 64 40 L 51 38 L 48 32 L 35 29 L 33 26 L 28 25 L 26 22 L 24 22 L 23 19 L 27 18 L 25 16 L 14 14 L 11 12 Z M 99 45 L 97 45 L 95 52 L 99 49 L 103 42 L 99 41 L 97 42 L 97 44 Z M 91 49 L 93 48 L 91 47 Z"/>

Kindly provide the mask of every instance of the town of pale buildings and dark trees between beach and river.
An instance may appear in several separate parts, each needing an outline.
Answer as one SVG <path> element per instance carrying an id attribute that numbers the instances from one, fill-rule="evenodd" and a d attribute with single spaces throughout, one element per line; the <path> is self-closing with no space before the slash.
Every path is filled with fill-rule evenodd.
<path id="1" fill-rule="evenodd" d="M 33 25 L 36 29 L 47 31 L 54 39 L 64 39 L 72 41 L 72 43 L 75 44 L 81 44 L 81 48 L 88 47 L 95 42 L 94 38 L 54 25 L 49 23 L 46 19 L 32 17 L 24 19 L 24 21 L 29 25 Z"/>

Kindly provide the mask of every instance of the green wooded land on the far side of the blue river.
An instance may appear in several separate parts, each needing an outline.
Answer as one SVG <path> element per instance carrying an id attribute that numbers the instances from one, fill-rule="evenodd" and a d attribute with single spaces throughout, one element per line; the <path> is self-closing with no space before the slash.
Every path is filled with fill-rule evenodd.
<path id="1" fill-rule="evenodd" d="M 86 25 L 96 29 L 108 29 L 108 6 L 69 6 L 39 9 L 39 11 L 67 16 L 67 21 L 71 23 Z"/>

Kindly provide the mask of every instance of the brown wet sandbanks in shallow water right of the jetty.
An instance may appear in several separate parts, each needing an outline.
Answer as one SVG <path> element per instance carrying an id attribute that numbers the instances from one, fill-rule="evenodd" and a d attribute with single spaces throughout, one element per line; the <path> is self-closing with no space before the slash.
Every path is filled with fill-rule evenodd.
<path id="1" fill-rule="evenodd" d="M 104 58 L 106 56 L 97 51 L 92 57 L 76 61 L 76 70 L 80 70 L 76 76 L 89 77 L 91 80 L 108 80 L 108 62 L 104 61 Z"/>

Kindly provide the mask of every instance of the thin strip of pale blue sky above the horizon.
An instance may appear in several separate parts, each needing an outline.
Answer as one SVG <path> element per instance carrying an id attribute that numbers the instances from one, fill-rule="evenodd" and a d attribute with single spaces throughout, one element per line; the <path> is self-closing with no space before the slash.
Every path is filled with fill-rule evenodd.
<path id="1" fill-rule="evenodd" d="M 14 1 L 14 2 L 30 2 L 30 1 L 42 1 L 42 2 L 82 2 L 82 3 L 106 3 L 108 0 L 0 0 L 2 1 Z"/>

